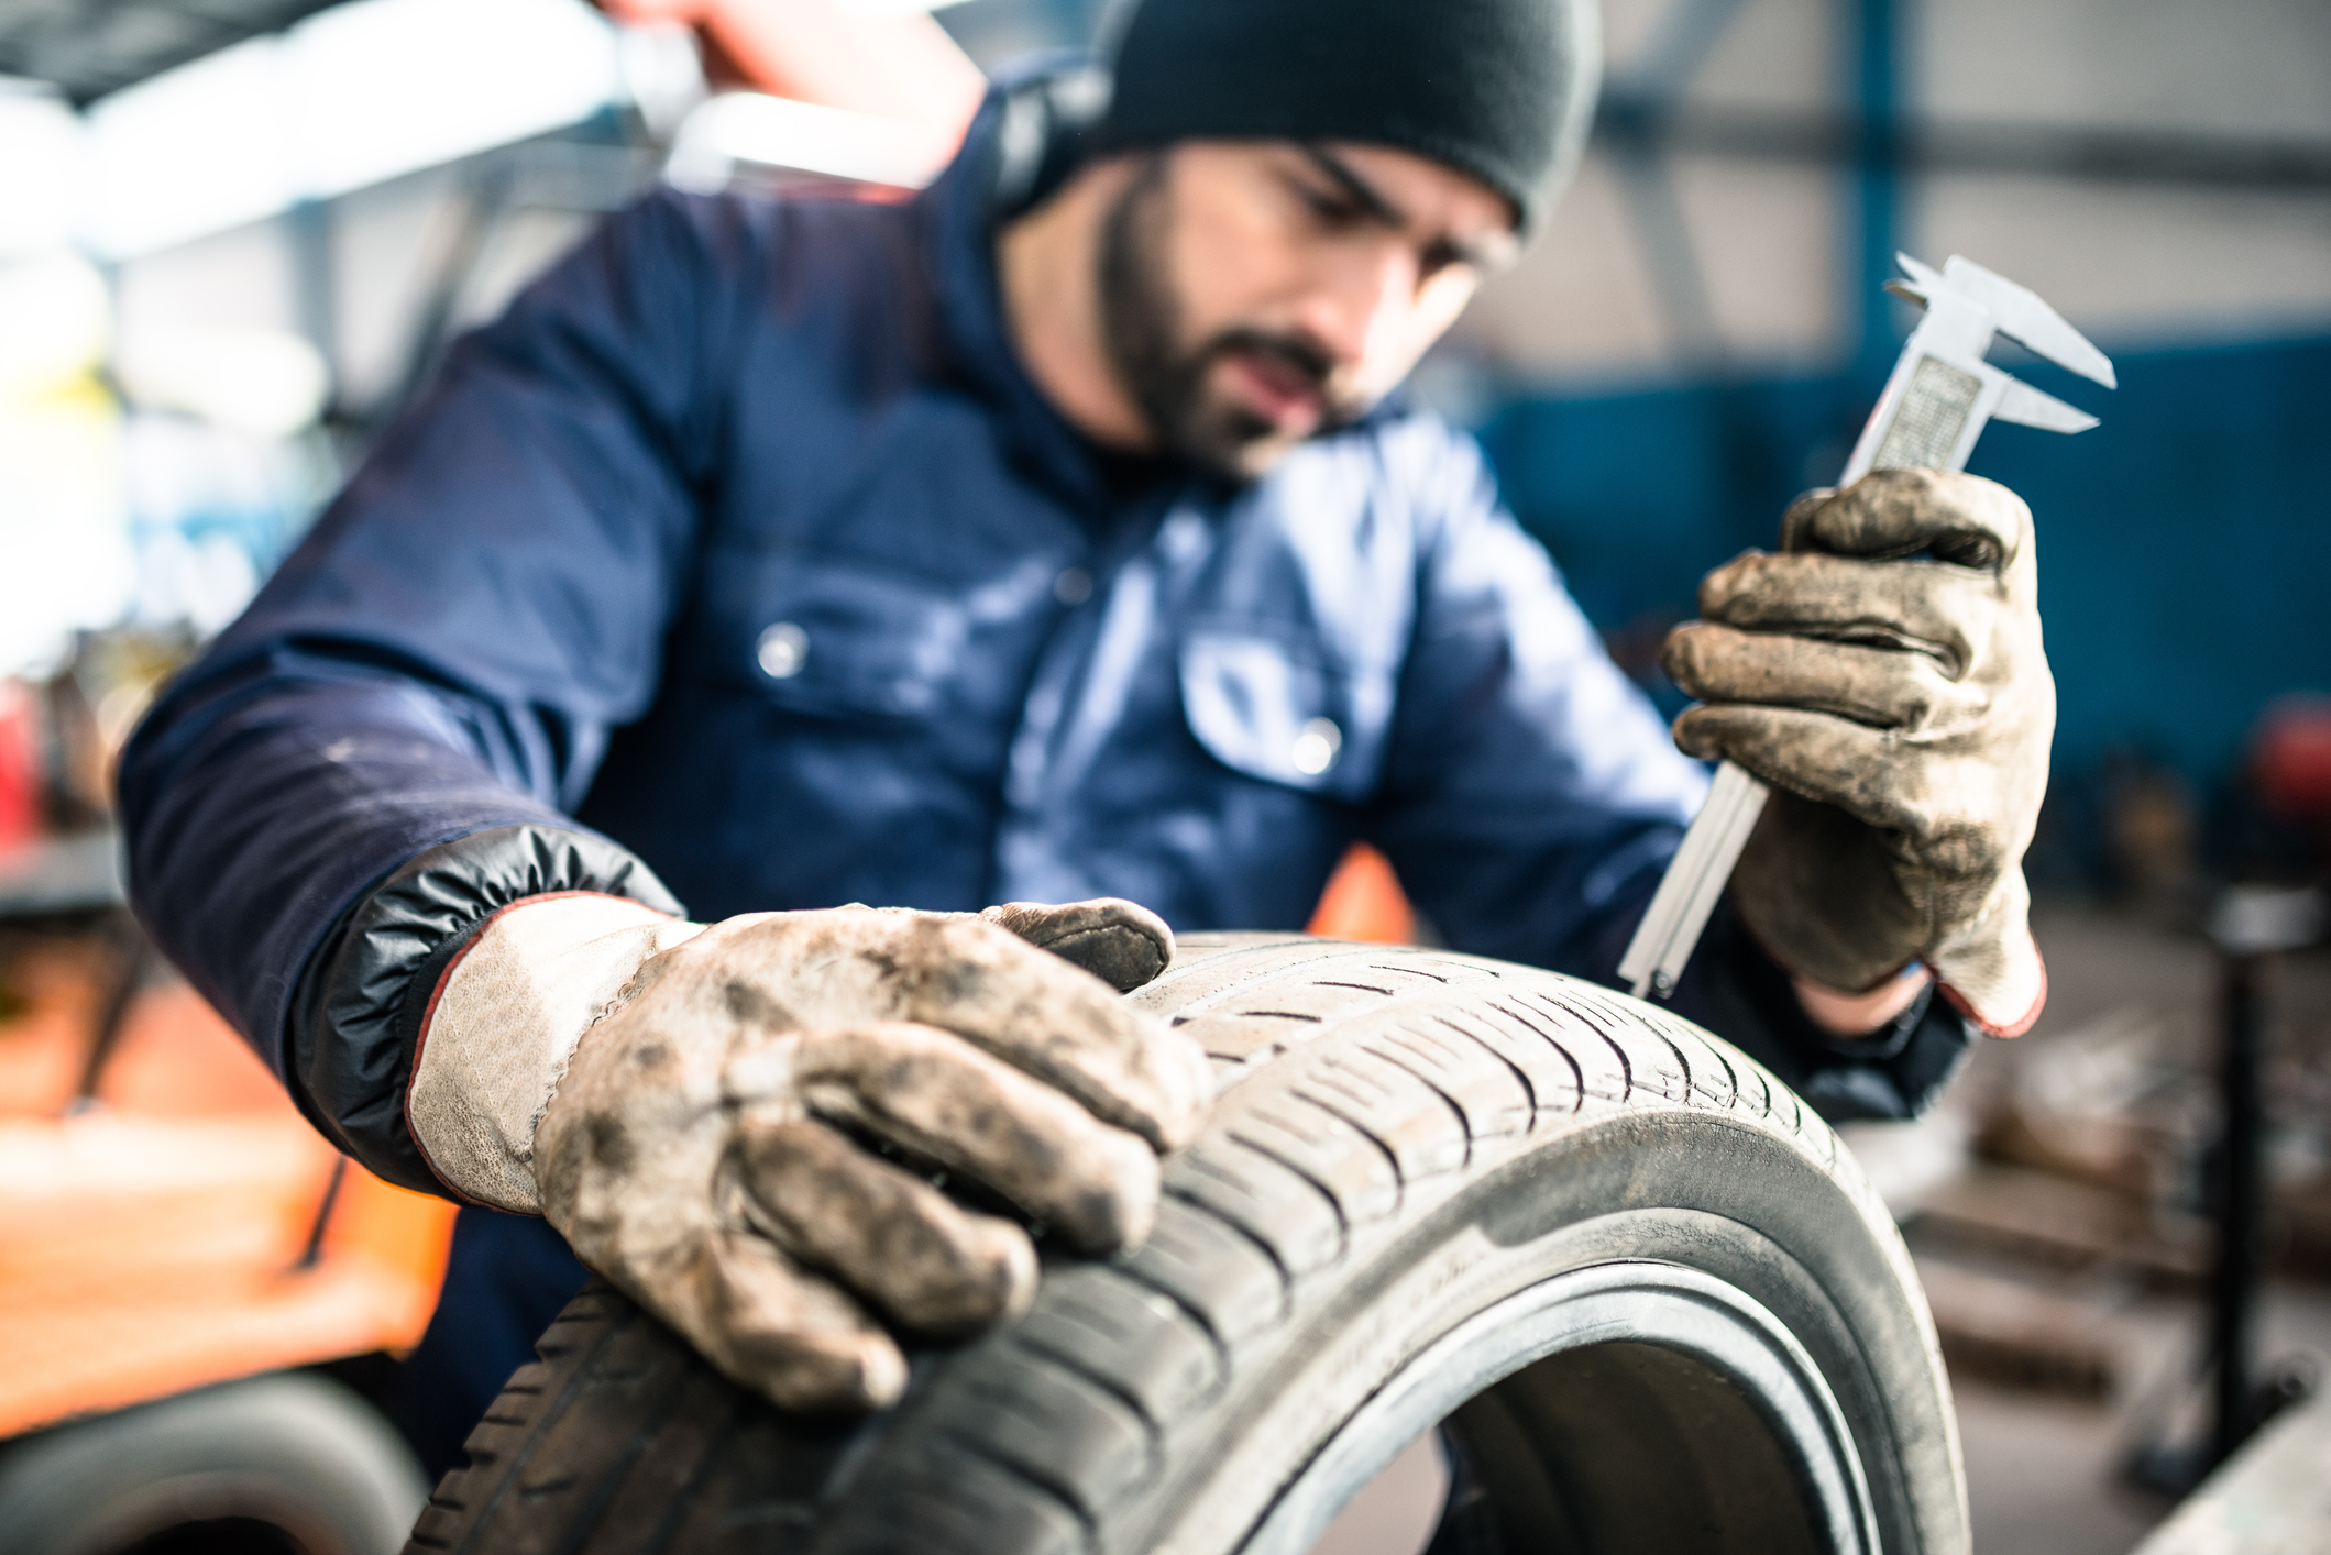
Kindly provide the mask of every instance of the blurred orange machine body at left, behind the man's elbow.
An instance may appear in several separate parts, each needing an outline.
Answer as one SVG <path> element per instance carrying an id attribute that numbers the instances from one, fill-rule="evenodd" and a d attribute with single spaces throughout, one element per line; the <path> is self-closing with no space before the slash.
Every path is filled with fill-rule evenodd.
<path id="1" fill-rule="evenodd" d="M 410 1350 L 452 1205 L 343 1161 L 177 981 L 138 995 L 98 1105 L 68 1110 L 98 963 L 35 947 L 0 1021 L 0 1436 Z"/>

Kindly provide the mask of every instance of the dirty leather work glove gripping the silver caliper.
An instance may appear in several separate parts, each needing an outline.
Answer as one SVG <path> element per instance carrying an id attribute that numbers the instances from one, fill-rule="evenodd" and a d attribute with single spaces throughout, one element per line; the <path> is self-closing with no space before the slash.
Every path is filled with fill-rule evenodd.
<path id="1" fill-rule="evenodd" d="M 2047 995 L 2023 849 L 2056 727 L 2030 511 L 1876 471 L 1802 497 L 1781 550 L 1709 574 L 1664 655 L 1702 699 L 1676 744 L 1774 786 L 1732 900 L 1802 977 L 1860 993 L 1923 961 L 2016 1035 Z"/>

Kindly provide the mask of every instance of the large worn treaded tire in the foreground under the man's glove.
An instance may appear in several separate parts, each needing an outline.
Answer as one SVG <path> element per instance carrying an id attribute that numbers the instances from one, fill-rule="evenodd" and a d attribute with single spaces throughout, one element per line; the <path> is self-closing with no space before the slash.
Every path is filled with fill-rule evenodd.
<path id="1" fill-rule="evenodd" d="M 1834 1396 L 1876 1546 L 1967 1548 L 1949 1382 L 1902 1240 L 1837 1135 L 1725 1042 L 1552 972 L 1284 935 L 1193 935 L 1131 998 L 1196 1035 L 1221 1086 L 1140 1252 L 1049 1264 L 1028 1317 L 914 1357 L 907 1399 L 865 1422 L 776 1413 L 594 1282 L 408 1548 L 1277 1548 L 1259 1529 L 1289 1487 L 1434 1341 L 1620 1268 L 1769 1313 Z M 1569 1513 L 1513 1525 L 1508 1508 L 1503 1543 L 1466 1548 L 1781 1548 L 1720 1506 L 1660 1525 L 1683 1448 L 1625 1424 L 1629 1375 L 1657 1357 L 1578 1355 L 1594 1364 L 1515 1357 L 1457 1413 L 1457 1438 L 1473 1417 L 1497 1457 L 1503 1427 L 1478 1415 L 1510 1394 L 1506 1415 L 1538 1422 L 1522 1436 L 1587 1464 Z M 1422 1424 L 1361 1457 L 1389 1459 Z M 1762 1462 L 1753 1429 L 1699 1434 L 1718 1469 Z"/>

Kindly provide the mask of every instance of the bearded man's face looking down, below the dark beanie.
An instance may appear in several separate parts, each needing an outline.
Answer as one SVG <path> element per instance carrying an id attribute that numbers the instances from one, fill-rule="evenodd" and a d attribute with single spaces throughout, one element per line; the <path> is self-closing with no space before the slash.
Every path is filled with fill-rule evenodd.
<path id="1" fill-rule="evenodd" d="M 1252 478 L 1392 392 L 1515 252 L 1506 198 L 1424 156 L 1184 142 L 1107 214 L 1110 366 L 1166 452 Z"/>

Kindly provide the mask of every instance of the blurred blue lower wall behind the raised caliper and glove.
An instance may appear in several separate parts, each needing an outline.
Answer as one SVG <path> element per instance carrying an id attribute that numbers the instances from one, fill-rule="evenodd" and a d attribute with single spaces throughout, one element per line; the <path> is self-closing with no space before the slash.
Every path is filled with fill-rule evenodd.
<path id="1" fill-rule="evenodd" d="M 2212 783 L 2268 699 L 2331 692 L 2331 338 L 2117 354 L 2119 392 L 2002 364 L 2105 417 L 2077 438 L 1995 424 L 1970 466 L 2040 522 L 2056 765 L 2140 751 Z M 1834 480 L 1867 406 L 1844 378 L 1524 399 L 1483 441 L 1639 669 L 1709 567 Z"/>

